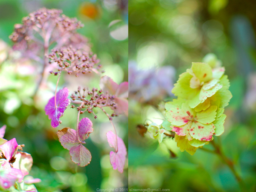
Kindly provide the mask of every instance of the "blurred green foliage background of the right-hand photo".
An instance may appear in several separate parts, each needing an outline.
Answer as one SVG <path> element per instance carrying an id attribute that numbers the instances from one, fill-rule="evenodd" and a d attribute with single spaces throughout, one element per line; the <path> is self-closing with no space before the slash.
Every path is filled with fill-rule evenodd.
<path id="1" fill-rule="evenodd" d="M 216 142 L 221 142 L 225 154 L 236 163 L 248 192 L 256 190 L 256 83 L 250 78 L 255 76 L 256 69 L 256 17 L 251 3 L 129 1 L 129 62 L 137 63 L 140 70 L 171 65 L 176 69 L 177 81 L 191 62 L 202 62 L 209 52 L 222 61 L 233 98 L 225 109 L 225 132 Z M 163 101 L 170 99 L 173 97 L 166 95 Z M 198 149 L 191 156 L 180 152 L 173 140 L 163 140 L 159 145 L 148 133 L 142 138 L 137 125 L 151 121 L 160 125 L 164 119 L 164 102 L 151 104 L 129 100 L 130 189 L 240 191 L 230 169 L 215 154 Z"/>

